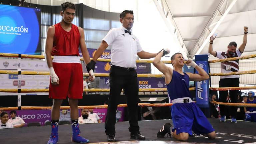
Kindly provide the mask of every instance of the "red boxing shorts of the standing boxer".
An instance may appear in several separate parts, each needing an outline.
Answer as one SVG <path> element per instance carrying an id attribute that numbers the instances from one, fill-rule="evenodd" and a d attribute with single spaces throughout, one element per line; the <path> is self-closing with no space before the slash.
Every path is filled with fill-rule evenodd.
<path id="1" fill-rule="evenodd" d="M 80 63 L 55 63 L 53 68 L 59 77 L 59 85 L 50 82 L 49 98 L 83 98 L 83 69 Z"/>

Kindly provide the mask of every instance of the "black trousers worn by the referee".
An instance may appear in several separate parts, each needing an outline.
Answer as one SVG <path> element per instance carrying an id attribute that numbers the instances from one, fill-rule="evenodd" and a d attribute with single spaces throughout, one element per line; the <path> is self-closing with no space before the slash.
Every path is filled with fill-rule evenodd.
<path id="1" fill-rule="evenodd" d="M 120 97 L 121 90 L 127 99 L 128 120 L 130 123 L 129 130 L 131 134 L 139 133 L 138 126 L 138 100 L 139 89 L 137 73 L 135 70 L 127 70 L 124 68 L 111 66 L 109 73 L 110 96 L 105 122 L 106 135 L 115 135 L 116 110 L 117 102 Z"/>

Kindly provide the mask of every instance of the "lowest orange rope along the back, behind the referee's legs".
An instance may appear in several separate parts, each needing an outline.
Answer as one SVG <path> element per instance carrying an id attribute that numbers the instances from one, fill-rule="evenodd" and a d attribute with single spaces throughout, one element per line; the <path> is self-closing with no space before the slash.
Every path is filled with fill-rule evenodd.
<path id="1" fill-rule="evenodd" d="M 138 103 L 138 106 L 145 107 L 164 107 L 164 106 L 172 106 L 173 103 Z M 78 109 L 100 109 L 100 108 L 107 108 L 107 105 L 96 105 L 96 106 L 78 106 Z M 127 104 L 119 104 L 117 107 L 127 107 Z M 40 106 L 22 106 L 21 110 L 51 110 L 52 106 L 48 107 L 40 107 Z M 70 109 L 70 106 L 61 106 L 60 109 Z M 7 107 L 7 108 L 0 108 L 2 111 L 6 110 L 18 110 L 18 107 Z"/>

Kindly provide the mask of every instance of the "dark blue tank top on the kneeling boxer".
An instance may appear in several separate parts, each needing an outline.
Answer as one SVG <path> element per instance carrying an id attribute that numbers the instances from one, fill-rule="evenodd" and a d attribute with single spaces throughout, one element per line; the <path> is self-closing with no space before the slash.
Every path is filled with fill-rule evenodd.
<path id="1" fill-rule="evenodd" d="M 183 97 L 191 97 L 189 92 L 189 76 L 173 70 L 172 80 L 167 85 L 167 91 L 171 100 Z"/>

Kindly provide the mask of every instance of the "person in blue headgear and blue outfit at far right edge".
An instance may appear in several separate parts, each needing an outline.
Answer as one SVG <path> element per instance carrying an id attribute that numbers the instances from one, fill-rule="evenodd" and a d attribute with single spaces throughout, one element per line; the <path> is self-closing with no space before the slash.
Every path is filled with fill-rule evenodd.
<path id="1" fill-rule="evenodd" d="M 248 92 L 249 98 L 247 99 L 246 103 L 248 104 L 256 104 L 256 99 L 254 98 L 254 92 Z M 256 107 L 244 107 L 244 112 L 246 116 L 246 121 L 256 122 Z"/>

